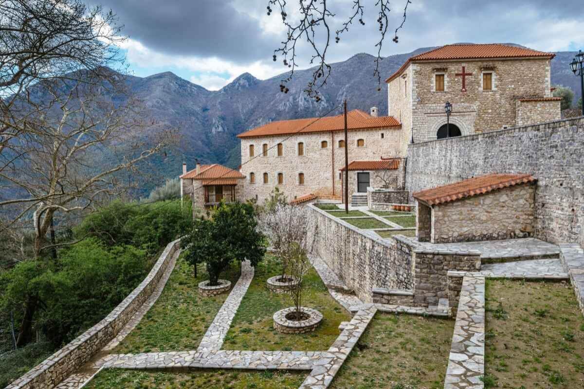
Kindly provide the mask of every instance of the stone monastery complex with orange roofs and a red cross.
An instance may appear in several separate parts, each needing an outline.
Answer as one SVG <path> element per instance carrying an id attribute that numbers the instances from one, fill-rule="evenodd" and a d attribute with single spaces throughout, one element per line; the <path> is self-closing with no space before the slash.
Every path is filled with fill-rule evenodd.
<path id="1" fill-rule="evenodd" d="M 225 191 L 226 199 L 263 201 L 274 187 L 298 202 L 315 196 L 341 199 L 345 147 L 350 197 L 365 195 L 367 187 L 403 190 L 404 157 L 411 142 L 559 120 L 561 99 L 551 96 L 553 57 L 503 44 L 453 44 L 415 55 L 386 80 L 388 116 L 378 116 L 377 107 L 370 113 L 349 111 L 347 145 L 343 115 L 253 128 L 238 135 L 241 176 L 230 172 L 228 183 L 215 183 L 222 176 L 206 174 L 199 182 L 207 188 L 193 202 L 213 205 L 223 195 L 210 194 Z M 448 125 L 447 101 L 452 106 Z M 183 187 L 193 187 L 196 174 L 196 169 L 185 169 L 181 178 L 189 183 Z"/>

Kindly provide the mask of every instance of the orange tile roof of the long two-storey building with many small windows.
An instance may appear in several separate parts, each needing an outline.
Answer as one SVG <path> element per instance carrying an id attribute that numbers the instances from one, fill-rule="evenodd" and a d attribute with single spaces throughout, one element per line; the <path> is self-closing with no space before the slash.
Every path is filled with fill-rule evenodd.
<path id="1" fill-rule="evenodd" d="M 347 128 L 401 128 L 401 124 L 392 116 L 371 116 L 361 110 L 352 110 L 347 113 Z M 327 116 L 323 118 L 304 118 L 294 120 L 273 121 L 237 135 L 238 138 L 251 138 L 252 136 L 289 135 L 307 132 L 342 131 L 345 129 L 343 115 Z"/>

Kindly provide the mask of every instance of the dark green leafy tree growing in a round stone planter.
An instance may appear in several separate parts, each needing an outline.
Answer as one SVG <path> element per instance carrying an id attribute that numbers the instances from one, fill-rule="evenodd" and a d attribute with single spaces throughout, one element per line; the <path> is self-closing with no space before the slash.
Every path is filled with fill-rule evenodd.
<path id="1" fill-rule="evenodd" d="M 185 259 L 193 266 L 204 262 L 209 285 L 218 279 L 232 261 L 249 260 L 255 267 L 266 253 L 265 238 L 257 229 L 251 204 L 221 204 L 212 219 L 195 219 L 193 229 L 182 241 Z"/>

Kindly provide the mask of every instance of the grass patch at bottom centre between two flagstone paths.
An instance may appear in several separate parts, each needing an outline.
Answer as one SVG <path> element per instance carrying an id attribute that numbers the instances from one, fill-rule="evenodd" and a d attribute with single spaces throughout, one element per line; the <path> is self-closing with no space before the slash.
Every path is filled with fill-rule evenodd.
<path id="1" fill-rule="evenodd" d="M 377 313 L 332 389 L 442 389 L 454 321 Z"/>

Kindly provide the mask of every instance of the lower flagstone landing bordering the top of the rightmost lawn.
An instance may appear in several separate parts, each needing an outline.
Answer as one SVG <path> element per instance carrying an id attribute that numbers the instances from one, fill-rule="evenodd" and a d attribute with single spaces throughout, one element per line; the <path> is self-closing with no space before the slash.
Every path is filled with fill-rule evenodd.
<path id="1" fill-rule="evenodd" d="M 557 259 L 485 264 L 481 265 L 481 274 L 487 278 L 568 279 Z"/>

